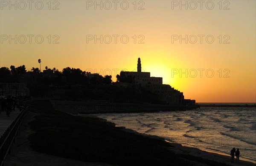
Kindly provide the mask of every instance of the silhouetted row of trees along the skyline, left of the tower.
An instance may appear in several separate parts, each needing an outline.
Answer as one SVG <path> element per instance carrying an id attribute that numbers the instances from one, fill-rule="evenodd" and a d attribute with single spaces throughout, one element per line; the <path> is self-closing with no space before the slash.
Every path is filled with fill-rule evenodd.
<path id="1" fill-rule="evenodd" d="M 25 65 L 15 68 L 0 68 L 0 82 L 47 82 L 52 86 L 65 86 L 71 84 L 111 84 L 112 76 L 91 75 L 90 72 L 82 71 L 79 68 L 64 68 L 59 71 L 56 68 L 45 67 L 46 72 L 41 72 L 39 68 L 26 70 Z M 48 71 L 48 72 L 47 72 Z M 31 77 L 29 76 L 31 75 Z"/>

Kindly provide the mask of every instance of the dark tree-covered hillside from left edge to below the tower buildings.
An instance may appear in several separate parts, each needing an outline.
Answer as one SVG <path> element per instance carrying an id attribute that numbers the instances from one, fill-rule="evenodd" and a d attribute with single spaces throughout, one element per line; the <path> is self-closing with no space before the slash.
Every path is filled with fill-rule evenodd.
<path id="1" fill-rule="evenodd" d="M 116 76 L 117 82 L 134 82 L 133 77 L 126 78 L 122 73 Z M 25 65 L 0 68 L 0 83 L 26 83 L 30 96 L 58 96 L 67 100 L 105 100 L 108 102 L 160 103 L 157 95 L 143 87 L 111 86 L 112 76 L 101 76 L 82 71 L 79 68 L 46 67 L 44 72 L 39 68 L 27 71 Z M 0 90 L 1 90 L 0 85 Z"/>

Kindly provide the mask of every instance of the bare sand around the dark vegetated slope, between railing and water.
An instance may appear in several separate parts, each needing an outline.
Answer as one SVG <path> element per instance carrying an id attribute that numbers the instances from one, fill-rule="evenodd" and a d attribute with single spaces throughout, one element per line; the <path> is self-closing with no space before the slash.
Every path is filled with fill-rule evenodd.
<path id="1" fill-rule="evenodd" d="M 30 108 L 33 107 L 32 106 L 33 104 L 35 105 L 35 103 L 30 103 Z M 36 103 L 36 106 L 34 106 L 34 108 L 38 107 L 38 104 L 39 103 Z M 27 166 L 27 165 L 38 165 L 38 166 L 40 166 L 40 165 L 42 165 L 42 166 L 43 165 L 44 166 L 45 165 L 46 166 L 47 165 L 49 165 L 49 166 L 50 165 L 56 165 L 56 166 L 58 166 L 58 165 L 60 165 L 60 166 L 61 165 L 62 166 L 65 166 L 65 165 L 78 165 L 78 166 L 80 166 L 80 165 L 88 165 L 88 166 L 91 166 L 91 165 L 92 166 L 127 165 L 125 163 L 122 163 L 122 161 L 120 161 L 121 164 L 120 163 L 115 164 L 115 163 L 113 163 L 113 161 L 110 161 L 110 164 L 105 163 L 105 162 L 92 162 L 92 161 L 86 162 L 86 161 L 81 161 L 81 160 L 74 160 L 74 159 L 72 159 L 72 156 L 70 158 L 67 158 L 67 157 L 63 158 L 61 156 L 56 157 L 56 155 L 54 155 L 54 154 L 49 155 L 49 154 L 47 154 L 48 153 L 47 151 L 42 153 L 42 152 L 38 152 L 38 150 L 37 150 L 37 152 L 36 152 L 35 147 L 32 148 L 31 138 L 28 139 L 28 137 L 29 137 L 29 135 L 36 133 L 35 131 L 37 131 L 37 130 L 32 129 L 33 127 L 31 127 L 31 125 L 33 123 L 31 123 L 31 122 L 34 121 L 35 119 L 38 119 L 40 117 L 40 115 L 42 114 L 42 112 L 44 112 L 43 111 L 44 109 L 45 109 L 45 107 L 44 108 L 41 107 L 39 109 L 31 109 L 29 111 L 29 114 L 24 119 L 23 125 L 22 125 L 20 131 L 18 132 L 16 142 L 12 146 L 11 155 L 8 155 L 6 158 L 5 165 L 15 166 L 15 165 L 17 165 L 17 163 L 19 164 L 19 166 Z M 54 110 L 51 110 L 51 111 L 54 111 Z M 58 115 L 59 113 L 58 114 L 54 113 L 54 114 Z M 63 114 L 62 116 L 67 116 L 68 118 L 71 118 L 69 115 Z M 82 118 L 84 119 L 84 117 L 82 117 Z M 104 128 L 104 129 L 108 129 L 110 127 L 111 129 L 113 129 L 114 132 L 116 132 L 116 135 L 118 135 L 118 133 L 122 133 L 122 134 L 126 133 L 125 134 L 126 137 L 129 136 L 129 137 L 131 137 L 131 139 L 136 138 L 137 140 L 139 139 L 143 142 L 148 142 L 152 147 L 154 147 L 157 144 L 160 145 L 161 147 L 165 146 L 168 149 L 168 151 L 173 152 L 175 154 L 174 156 L 175 156 L 175 158 L 177 158 L 177 160 L 181 159 L 181 160 L 184 160 L 185 162 L 192 163 L 193 165 L 200 165 L 200 166 L 208 165 L 208 163 L 216 164 L 216 163 L 214 163 L 214 161 L 220 162 L 218 165 L 221 165 L 222 163 L 231 164 L 230 156 L 209 153 L 209 152 L 201 151 L 196 148 L 182 146 L 177 143 L 167 143 L 163 138 L 160 138 L 158 136 L 140 134 L 131 129 L 125 129 L 125 127 L 113 127 L 113 125 L 114 125 L 113 123 L 106 122 L 106 120 L 104 120 L 104 119 L 93 118 L 93 117 L 89 117 L 89 118 L 90 118 L 90 121 L 92 121 L 93 123 L 95 121 L 96 121 L 96 123 L 99 122 L 100 125 L 102 125 L 100 127 Z M 43 120 L 43 118 L 40 118 L 40 119 Z M 56 118 L 56 119 L 58 119 L 58 118 Z M 106 126 L 108 126 L 108 127 L 105 128 Z M 58 131 L 58 129 L 55 129 L 55 132 L 56 131 Z M 73 133 L 75 133 L 75 132 L 73 132 Z M 99 137 L 101 137 L 101 136 L 99 136 Z M 111 138 L 111 139 L 113 139 L 113 138 Z M 108 141 L 108 140 L 106 140 L 106 141 Z M 120 141 L 120 143 L 122 143 L 122 145 L 125 145 L 125 143 L 129 143 L 123 139 L 119 139 L 119 141 Z M 165 144 L 164 142 L 169 145 Z M 41 142 L 41 143 L 44 143 L 44 142 Z M 130 142 L 130 143 L 132 143 L 132 142 Z M 139 142 L 134 142 L 134 143 L 139 143 Z M 142 143 L 142 142 L 140 142 L 140 143 Z M 148 144 L 146 144 L 146 145 L 148 145 Z M 132 145 L 130 144 L 129 146 L 132 146 Z M 160 146 L 155 146 L 155 147 L 159 148 Z M 110 146 L 109 148 L 111 148 L 111 147 L 112 146 Z M 56 147 L 56 148 L 58 149 L 58 147 Z M 102 146 L 102 148 L 105 148 L 105 147 Z M 164 149 L 166 149 L 166 148 L 164 148 Z M 168 151 L 165 151 L 165 152 L 168 152 Z M 141 156 L 141 157 L 143 157 L 143 156 Z M 157 156 L 151 156 L 151 157 L 157 158 Z M 142 158 L 140 158 L 140 159 L 142 162 L 141 165 L 143 165 L 143 163 L 146 163 L 146 160 L 143 160 Z M 164 160 L 164 158 L 162 158 L 161 160 Z M 241 161 L 241 163 L 239 163 L 239 164 L 233 163 L 231 165 L 253 166 L 256 164 L 250 163 L 247 161 Z"/>

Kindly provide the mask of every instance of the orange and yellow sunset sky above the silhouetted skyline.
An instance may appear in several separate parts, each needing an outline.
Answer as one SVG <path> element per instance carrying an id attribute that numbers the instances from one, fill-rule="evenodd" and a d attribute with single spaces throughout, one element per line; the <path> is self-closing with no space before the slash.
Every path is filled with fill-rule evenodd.
<path id="1" fill-rule="evenodd" d="M 183 0 L 187 10 L 180 1 L 172 0 L 135 1 L 136 6 L 134 0 L 117 1 L 116 9 L 113 1 L 97 1 L 102 10 L 94 0 L 50 1 L 51 6 L 48 0 L 33 1 L 31 10 L 29 3 L 25 7 L 15 2 L 17 9 L 9 1 L 0 1 L 0 67 L 26 65 L 30 70 L 39 68 L 41 59 L 42 68 L 69 66 L 115 77 L 124 69 L 135 71 L 140 57 L 144 71 L 163 77 L 164 84 L 180 90 L 185 98 L 256 102 L 255 0 L 203 1 L 202 8 L 198 1 Z M 108 10 L 109 2 L 112 8 Z M 44 6 L 39 10 L 41 3 Z M 9 41 L 15 35 L 17 44 Z M 22 35 L 26 36 L 24 44 Z M 31 43 L 27 35 L 34 35 Z M 37 43 L 40 38 L 35 41 L 37 35 L 44 38 L 41 44 Z M 53 44 L 54 35 L 58 35 L 58 44 Z M 102 35 L 102 44 L 87 41 L 87 35 Z M 108 35 L 112 37 L 109 44 Z M 113 35 L 119 35 L 116 43 Z M 127 35 L 128 43 L 122 43 L 126 40 L 121 41 L 122 35 Z M 187 44 L 186 40 L 172 40 L 180 35 L 188 35 Z M 202 43 L 198 35 L 204 35 Z M 141 39 L 144 43 L 139 44 Z"/>

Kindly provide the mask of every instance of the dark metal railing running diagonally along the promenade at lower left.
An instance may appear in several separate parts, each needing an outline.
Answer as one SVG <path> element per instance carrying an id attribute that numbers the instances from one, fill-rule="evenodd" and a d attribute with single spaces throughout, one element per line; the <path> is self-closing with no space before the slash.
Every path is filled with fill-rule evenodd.
<path id="1" fill-rule="evenodd" d="M 27 115 L 28 107 L 23 109 L 14 121 L 7 127 L 6 131 L 0 136 L 0 166 L 3 166 L 4 160 L 8 154 L 11 154 L 11 145 L 15 142 L 15 136 L 24 117 Z"/>

